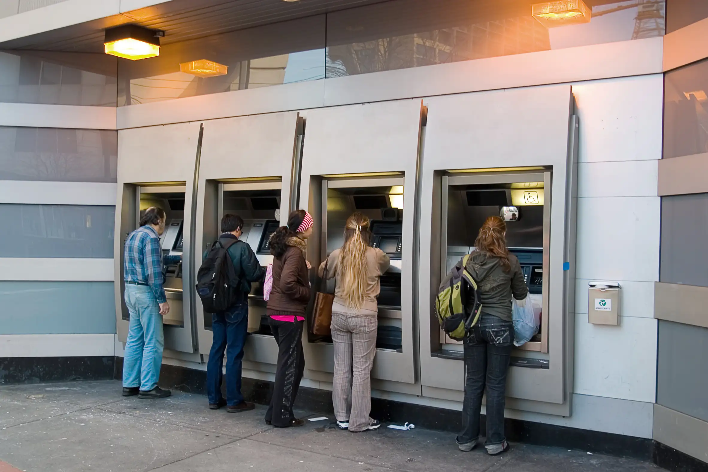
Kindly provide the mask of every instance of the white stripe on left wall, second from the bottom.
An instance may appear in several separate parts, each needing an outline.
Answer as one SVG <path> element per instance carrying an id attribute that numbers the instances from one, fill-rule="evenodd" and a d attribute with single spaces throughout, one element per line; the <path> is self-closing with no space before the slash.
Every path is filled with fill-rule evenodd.
<path id="1" fill-rule="evenodd" d="M 113 282 L 114 260 L 0 258 L 0 280 Z"/>

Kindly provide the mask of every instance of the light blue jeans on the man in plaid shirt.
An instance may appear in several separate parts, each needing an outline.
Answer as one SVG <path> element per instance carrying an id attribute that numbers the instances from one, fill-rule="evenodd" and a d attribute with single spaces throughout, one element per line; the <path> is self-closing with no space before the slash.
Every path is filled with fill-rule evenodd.
<path id="1" fill-rule="evenodd" d="M 130 326 L 123 358 L 123 386 L 149 391 L 157 386 L 165 345 L 160 307 L 152 288 L 144 285 L 125 284 L 125 304 Z"/>

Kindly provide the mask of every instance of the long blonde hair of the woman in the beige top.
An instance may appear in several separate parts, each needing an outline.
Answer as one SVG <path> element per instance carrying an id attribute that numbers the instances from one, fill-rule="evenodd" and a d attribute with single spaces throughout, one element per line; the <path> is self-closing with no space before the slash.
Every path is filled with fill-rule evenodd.
<path id="1" fill-rule="evenodd" d="M 347 219 L 344 246 L 339 253 L 337 283 L 346 306 L 357 310 L 364 306 L 366 295 L 366 250 L 371 238 L 369 225 L 369 219 L 364 214 L 352 214 Z"/>

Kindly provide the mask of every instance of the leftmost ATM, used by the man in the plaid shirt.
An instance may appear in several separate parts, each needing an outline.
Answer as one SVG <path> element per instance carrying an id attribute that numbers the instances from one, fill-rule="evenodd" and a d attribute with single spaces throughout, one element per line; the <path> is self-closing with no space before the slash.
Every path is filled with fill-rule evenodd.
<path id="1" fill-rule="evenodd" d="M 118 131 L 118 198 L 115 215 L 115 301 L 118 339 L 127 339 L 128 315 L 123 292 L 123 244 L 137 229 L 142 212 L 159 207 L 166 213 L 160 238 L 163 255 L 182 255 L 181 263 L 164 267 L 164 289 L 170 304 L 164 316 L 165 357 L 198 361 L 193 318 L 193 182 L 201 142 L 200 123 Z M 149 181 L 146 179 L 149 178 Z"/>

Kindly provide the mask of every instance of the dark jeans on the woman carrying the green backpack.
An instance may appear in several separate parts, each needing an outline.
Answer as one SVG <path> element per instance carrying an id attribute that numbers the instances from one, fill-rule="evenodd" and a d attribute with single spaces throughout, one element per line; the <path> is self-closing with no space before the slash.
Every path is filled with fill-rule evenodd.
<path id="1" fill-rule="evenodd" d="M 464 444 L 479 438 L 479 415 L 486 386 L 486 445 L 502 444 L 506 374 L 514 343 L 514 325 L 496 316 L 482 313 L 479 322 L 464 340 L 464 383 L 462 432 L 457 442 Z"/>

